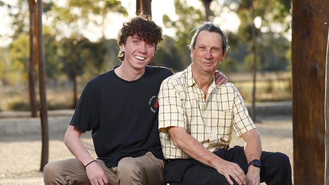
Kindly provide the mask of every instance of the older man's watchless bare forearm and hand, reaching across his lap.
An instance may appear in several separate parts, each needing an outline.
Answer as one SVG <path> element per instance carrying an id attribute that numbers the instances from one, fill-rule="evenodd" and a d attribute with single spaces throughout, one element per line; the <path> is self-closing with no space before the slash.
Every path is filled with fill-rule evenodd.
<path id="1" fill-rule="evenodd" d="M 238 184 L 246 183 L 244 172 L 236 163 L 225 161 L 205 149 L 194 137 L 186 132 L 185 128 L 172 126 L 167 127 L 167 130 L 176 147 L 180 148 L 193 159 L 215 168 L 220 174 L 226 177 L 230 184 L 233 184 L 230 176 Z"/>

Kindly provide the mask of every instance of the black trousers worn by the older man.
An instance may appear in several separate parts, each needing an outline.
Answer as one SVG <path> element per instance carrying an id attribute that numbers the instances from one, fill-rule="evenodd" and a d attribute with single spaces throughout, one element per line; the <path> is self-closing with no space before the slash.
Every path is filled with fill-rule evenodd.
<path id="1" fill-rule="evenodd" d="M 243 147 L 235 146 L 231 149 L 220 149 L 214 152 L 220 158 L 234 162 L 246 172 L 248 162 L 244 155 Z M 280 152 L 262 152 L 261 156 L 261 182 L 268 185 L 290 185 L 292 184 L 292 169 L 289 157 Z M 221 185 L 229 184 L 225 176 L 218 173 L 216 169 L 204 165 L 194 159 L 168 160 L 165 167 L 166 180 L 170 185 Z M 234 184 L 237 184 L 231 177 Z"/>

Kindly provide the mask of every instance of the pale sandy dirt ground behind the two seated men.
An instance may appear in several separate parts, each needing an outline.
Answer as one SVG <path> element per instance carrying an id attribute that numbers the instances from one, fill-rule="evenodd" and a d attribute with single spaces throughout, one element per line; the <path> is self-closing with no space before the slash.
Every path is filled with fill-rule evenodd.
<path id="1" fill-rule="evenodd" d="M 290 157 L 293 166 L 293 130 L 291 116 L 261 117 L 256 123 L 262 138 L 262 148 L 279 151 Z M 65 131 L 51 132 L 49 161 L 73 157 L 63 143 Z M 0 185 L 39 185 L 41 154 L 39 134 L 0 135 Z M 96 158 L 90 133 L 83 134 L 83 143 Z M 242 138 L 234 137 L 230 146 L 243 145 Z M 265 183 L 262 183 L 265 184 Z"/>

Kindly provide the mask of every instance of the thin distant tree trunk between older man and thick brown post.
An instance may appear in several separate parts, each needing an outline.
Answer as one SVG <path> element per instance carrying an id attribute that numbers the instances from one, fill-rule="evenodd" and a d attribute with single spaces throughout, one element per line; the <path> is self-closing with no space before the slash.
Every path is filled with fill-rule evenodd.
<path id="1" fill-rule="evenodd" d="M 254 19 L 255 19 L 255 6 L 253 2 L 252 6 L 252 50 L 253 50 L 253 65 L 252 65 L 252 73 L 253 73 L 253 92 L 252 92 L 252 119 L 256 121 L 256 109 L 255 109 L 255 104 L 256 104 L 256 72 L 257 72 L 257 53 L 256 53 L 256 27 L 254 24 Z"/>

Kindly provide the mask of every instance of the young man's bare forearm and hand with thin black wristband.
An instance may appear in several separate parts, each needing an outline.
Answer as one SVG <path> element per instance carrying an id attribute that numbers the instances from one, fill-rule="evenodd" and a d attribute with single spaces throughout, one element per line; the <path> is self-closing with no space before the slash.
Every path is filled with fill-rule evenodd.
<path id="1" fill-rule="evenodd" d="M 68 150 L 84 165 L 86 166 L 91 161 L 95 160 L 88 152 L 86 147 L 80 140 L 82 132 L 72 125 L 69 125 L 65 136 L 64 143 Z M 102 167 L 97 162 L 92 162 L 86 167 L 87 176 L 94 184 L 108 184 L 108 179 Z"/>

